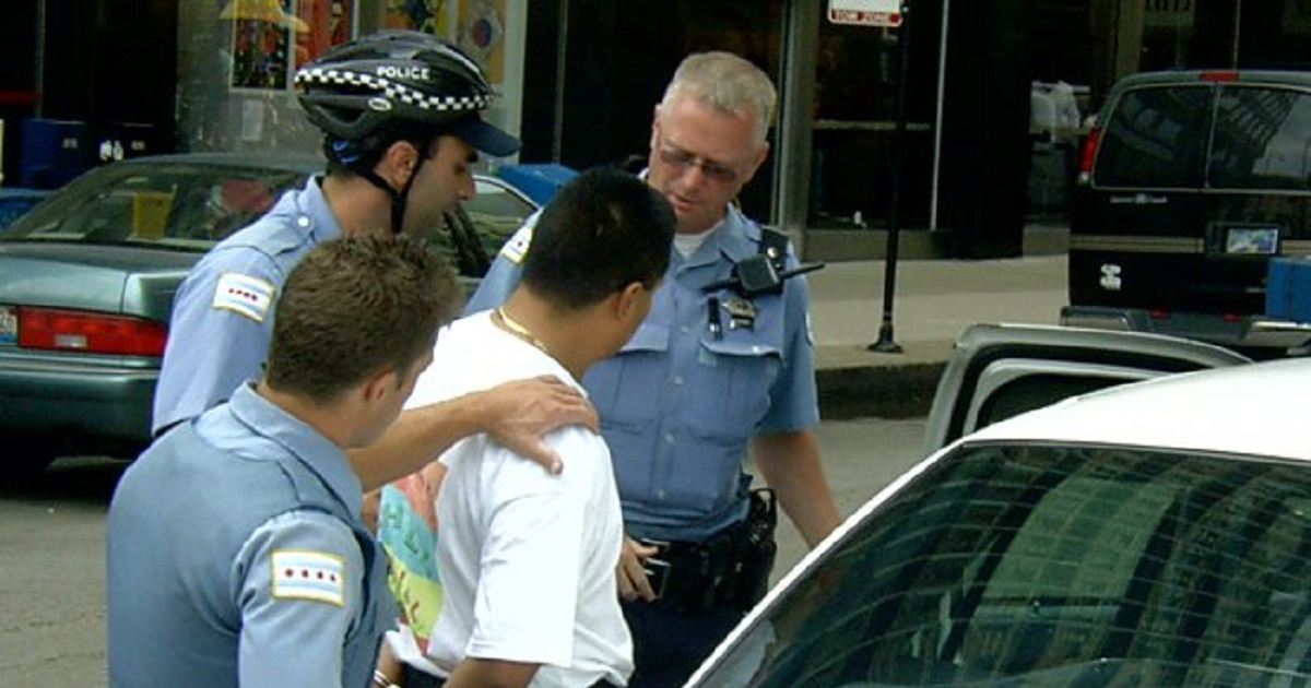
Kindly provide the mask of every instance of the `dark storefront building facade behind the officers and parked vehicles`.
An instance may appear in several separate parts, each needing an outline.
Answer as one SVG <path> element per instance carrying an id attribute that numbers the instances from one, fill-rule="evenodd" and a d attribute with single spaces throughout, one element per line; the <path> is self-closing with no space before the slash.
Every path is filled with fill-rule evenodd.
<path id="1" fill-rule="evenodd" d="M 937 256 L 1006 257 L 1034 212 L 1065 208 L 1079 127 L 1034 124 L 1050 89 L 1068 86 L 1082 121 L 1135 71 L 1311 68 L 1311 0 L 903 0 L 897 28 L 834 24 L 831 4 L 21 0 L 0 60 L 5 183 L 21 177 L 14 123 L 34 117 L 85 122 L 93 148 L 132 123 L 149 149 L 313 151 L 291 73 L 384 26 L 485 60 L 517 161 L 620 161 L 645 153 L 678 60 L 732 50 L 780 89 L 743 206 L 808 258 L 878 256 L 890 227 Z"/>

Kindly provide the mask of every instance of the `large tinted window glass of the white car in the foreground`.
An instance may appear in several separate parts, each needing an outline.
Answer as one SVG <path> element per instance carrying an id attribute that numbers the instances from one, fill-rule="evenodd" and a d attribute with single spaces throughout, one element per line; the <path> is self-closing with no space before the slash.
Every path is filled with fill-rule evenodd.
<path id="1" fill-rule="evenodd" d="M 703 687 L 1311 678 L 1311 468 L 977 446 L 881 505 Z"/>

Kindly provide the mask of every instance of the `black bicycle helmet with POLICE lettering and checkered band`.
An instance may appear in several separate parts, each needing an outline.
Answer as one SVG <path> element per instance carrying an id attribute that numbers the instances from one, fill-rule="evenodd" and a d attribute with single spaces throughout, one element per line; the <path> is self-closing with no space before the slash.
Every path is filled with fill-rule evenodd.
<path id="1" fill-rule="evenodd" d="M 440 127 L 492 105 L 468 55 L 430 34 L 382 31 L 328 50 L 296 72 L 309 121 L 361 139 L 397 121 Z"/>

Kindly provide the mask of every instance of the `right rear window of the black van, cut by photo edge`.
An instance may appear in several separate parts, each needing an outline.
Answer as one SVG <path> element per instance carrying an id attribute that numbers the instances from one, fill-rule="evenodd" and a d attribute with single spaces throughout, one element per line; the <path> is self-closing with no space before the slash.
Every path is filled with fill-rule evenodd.
<path id="1" fill-rule="evenodd" d="M 1311 96 L 1299 90 L 1221 89 L 1209 157 L 1213 189 L 1307 190 Z"/>

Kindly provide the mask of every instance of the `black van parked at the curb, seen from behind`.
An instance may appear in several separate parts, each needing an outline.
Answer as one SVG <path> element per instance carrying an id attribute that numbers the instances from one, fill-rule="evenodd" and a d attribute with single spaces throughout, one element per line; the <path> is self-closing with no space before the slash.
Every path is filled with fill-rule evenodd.
<path id="1" fill-rule="evenodd" d="M 1270 258 L 1311 253 L 1311 72 L 1122 79 L 1072 203 L 1063 324 L 1248 351 L 1311 341 L 1266 308 Z"/>

